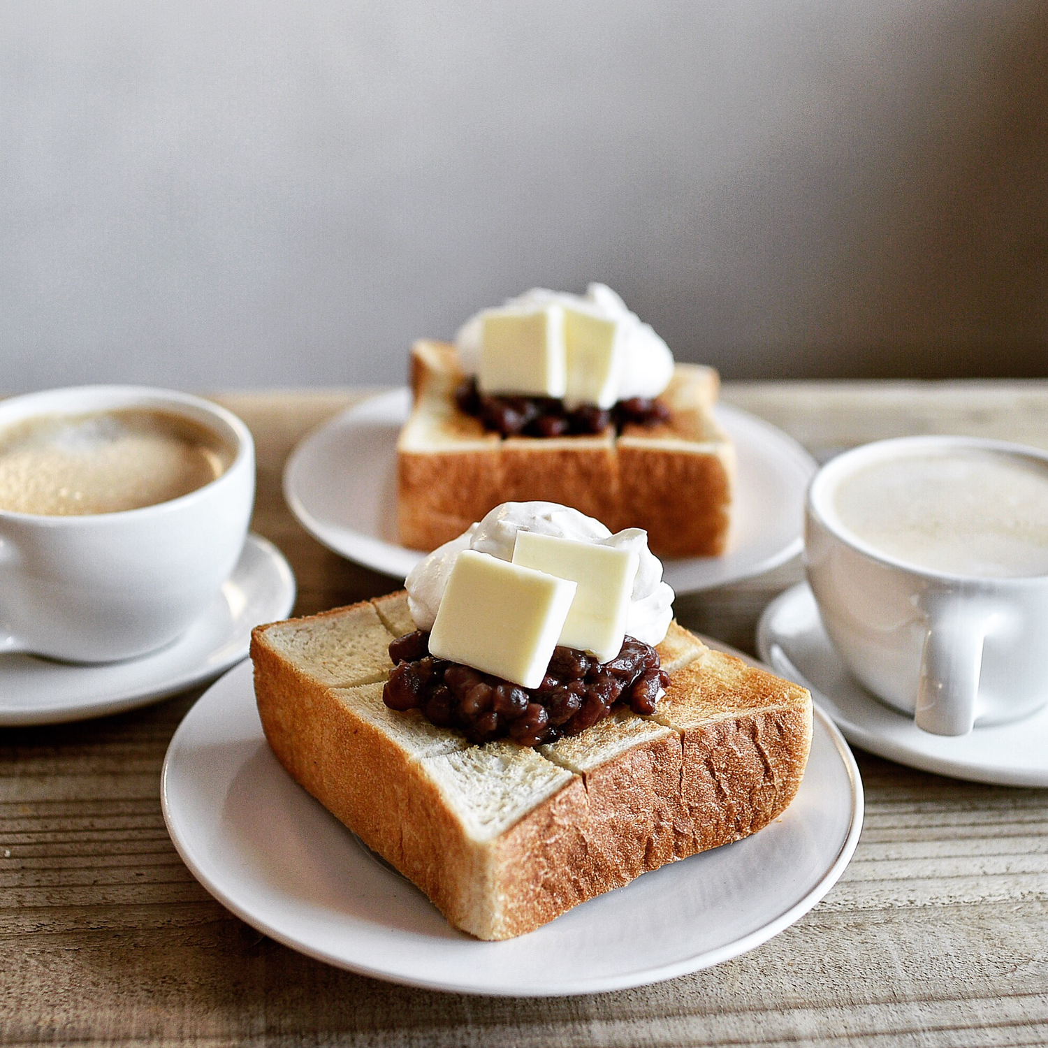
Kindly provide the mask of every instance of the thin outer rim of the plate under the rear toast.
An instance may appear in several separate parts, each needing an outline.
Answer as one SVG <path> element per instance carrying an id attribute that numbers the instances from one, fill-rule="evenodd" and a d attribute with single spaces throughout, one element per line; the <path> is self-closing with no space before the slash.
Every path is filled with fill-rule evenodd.
<path id="1" fill-rule="evenodd" d="M 296 520 L 298 520 L 298 522 L 309 532 L 310 536 L 312 536 L 313 539 L 321 543 L 321 545 L 325 548 L 331 550 L 331 552 L 336 553 L 339 556 L 342 556 L 353 564 L 359 564 L 371 571 L 376 571 L 390 578 L 397 578 L 400 581 L 402 581 L 402 576 L 395 572 L 391 573 L 388 566 L 379 566 L 374 560 L 363 560 L 358 553 L 347 553 L 345 549 L 340 548 L 333 541 L 331 541 L 326 534 L 329 525 L 326 525 L 306 507 L 299 494 L 300 485 L 296 483 L 294 478 L 296 474 L 301 468 L 301 463 L 307 459 L 309 453 L 311 452 L 314 442 L 327 436 L 329 431 L 344 425 L 353 415 L 358 412 L 363 412 L 366 408 L 370 407 L 374 409 L 375 407 L 378 407 L 376 401 L 393 401 L 402 399 L 406 395 L 410 395 L 410 390 L 407 386 L 399 386 L 393 389 L 369 393 L 355 403 L 352 403 L 348 408 L 344 408 L 342 411 L 332 415 L 329 419 L 327 419 L 327 421 L 315 425 L 294 445 L 291 454 L 287 457 L 287 461 L 284 463 L 284 470 L 281 477 L 281 487 L 284 495 L 284 501 L 287 503 L 287 506 L 291 510 Z M 738 408 L 733 403 L 718 401 L 714 411 L 717 414 L 727 415 L 729 418 L 734 417 L 740 420 L 743 424 L 760 430 L 765 437 L 773 439 L 782 446 L 783 451 L 788 454 L 798 466 L 808 473 L 808 479 L 805 483 L 806 486 L 807 484 L 810 484 L 811 478 L 814 477 L 818 470 L 818 463 L 799 440 L 794 439 L 784 430 L 779 429 L 779 427 L 772 424 L 767 419 L 761 418 L 759 415 L 755 415 L 752 412 L 746 411 L 744 408 Z M 342 527 L 342 525 L 333 526 Z M 409 551 L 407 547 L 400 546 L 397 543 L 388 542 L 385 539 L 375 539 L 372 536 L 365 534 L 354 528 L 344 528 L 344 530 L 352 532 L 354 536 L 358 537 L 363 543 L 379 544 L 386 547 L 390 550 L 391 554 L 395 556 L 401 556 L 409 552 L 417 552 Z M 675 589 L 679 594 L 686 595 L 690 593 L 701 593 L 706 590 L 716 589 L 720 586 L 729 586 L 735 583 L 744 582 L 747 578 L 754 578 L 757 575 L 773 571 L 776 568 L 779 568 L 783 564 L 787 563 L 787 561 L 792 560 L 801 553 L 803 549 L 803 525 L 799 520 L 798 533 L 788 544 L 782 546 L 774 553 L 764 558 L 763 560 L 754 561 L 745 565 L 745 567 L 736 569 L 722 576 L 714 577 L 701 583 L 690 583 L 684 586 L 678 585 Z M 727 555 L 730 555 L 730 550 L 728 550 Z M 667 561 L 665 563 L 670 566 L 674 564 L 686 565 L 691 561 L 696 560 L 704 559 L 681 558 L 677 561 Z M 410 567 L 408 570 L 410 570 Z M 405 571 L 405 574 L 407 574 L 407 571 Z"/>

